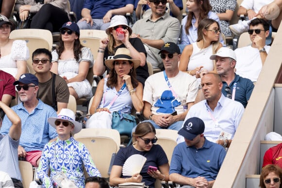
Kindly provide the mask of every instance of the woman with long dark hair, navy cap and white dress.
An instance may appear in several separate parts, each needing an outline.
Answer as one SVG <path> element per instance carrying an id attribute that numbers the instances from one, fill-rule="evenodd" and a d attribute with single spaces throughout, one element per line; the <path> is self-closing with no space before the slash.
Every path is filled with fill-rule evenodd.
<path id="1" fill-rule="evenodd" d="M 65 79 L 75 99 L 90 99 L 92 89 L 86 77 L 89 68 L 93 67 L 93 55 L 89 48 L 80 44 L 79 34 L 79 28 L 74 22 L 62 26 L 59 47 L 52 51 L 51 71 Z"/>

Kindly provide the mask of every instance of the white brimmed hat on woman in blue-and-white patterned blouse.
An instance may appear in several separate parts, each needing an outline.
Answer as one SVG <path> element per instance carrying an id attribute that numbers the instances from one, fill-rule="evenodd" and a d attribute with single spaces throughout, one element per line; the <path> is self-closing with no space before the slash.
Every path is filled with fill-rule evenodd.
<path id="1" fill-rule="evenodd" d="M 61 109 L 57 117 L 48 118 L 49 124 L 52 125 L 54 128 L 56 128 L 56 125 L 55 125 L 56 120 L 68 120 L 72 124 L 74 124 L 73 134 L 78 133 L 82 129 L 82 124 L 75 121 L 74 112 L 68 108 Z"/>

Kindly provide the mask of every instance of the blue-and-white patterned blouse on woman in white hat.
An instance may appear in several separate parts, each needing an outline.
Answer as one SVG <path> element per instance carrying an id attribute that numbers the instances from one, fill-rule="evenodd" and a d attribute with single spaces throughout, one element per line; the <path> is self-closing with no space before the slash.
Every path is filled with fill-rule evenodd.
<path id="1" fill-rule="evenodd" d="M 45 145 L 37 175 L 43 182 L 43 188 L 53 188 L 52 177 L 60 171 L 63 171 L 78 188 L 84 188 L 83 164 L 89 176 L 101 177 L 83 143 L 76 141 L 73 137 L 68 140 L 57 138 L 56 141 Z"/>

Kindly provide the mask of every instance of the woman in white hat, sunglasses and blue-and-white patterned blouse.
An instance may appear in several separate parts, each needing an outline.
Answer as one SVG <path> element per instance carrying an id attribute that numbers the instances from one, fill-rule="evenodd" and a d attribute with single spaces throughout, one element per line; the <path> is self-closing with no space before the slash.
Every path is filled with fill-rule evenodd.
<path id="1" fill-rule="evenodd" d="M 43 187 L 60 185 L 56 177 L 66 176 L 78 188 L 84 188 L 83 165 L 89 176 L 101 177 L 88 149 L 73 138 L 82 129 L 82 124 L 75 121 L 75 114 L 63 108 L 57 117 L 49 118 L 48 122 L 56 129 L 58 138 L 46 144 L 42 152 L 37 176 L 43 182 Z"/>

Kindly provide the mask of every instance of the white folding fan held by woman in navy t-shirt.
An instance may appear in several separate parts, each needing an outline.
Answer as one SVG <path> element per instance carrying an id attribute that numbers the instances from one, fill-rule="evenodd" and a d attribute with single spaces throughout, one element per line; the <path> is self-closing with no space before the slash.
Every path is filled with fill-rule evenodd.
<path id="1" fill-rule="evenodd" d="M 133 154 L 126 159 L 123 165 L 123 176 L 132 176 L 140 173 L 147 158 L 141 154 Z"/>

